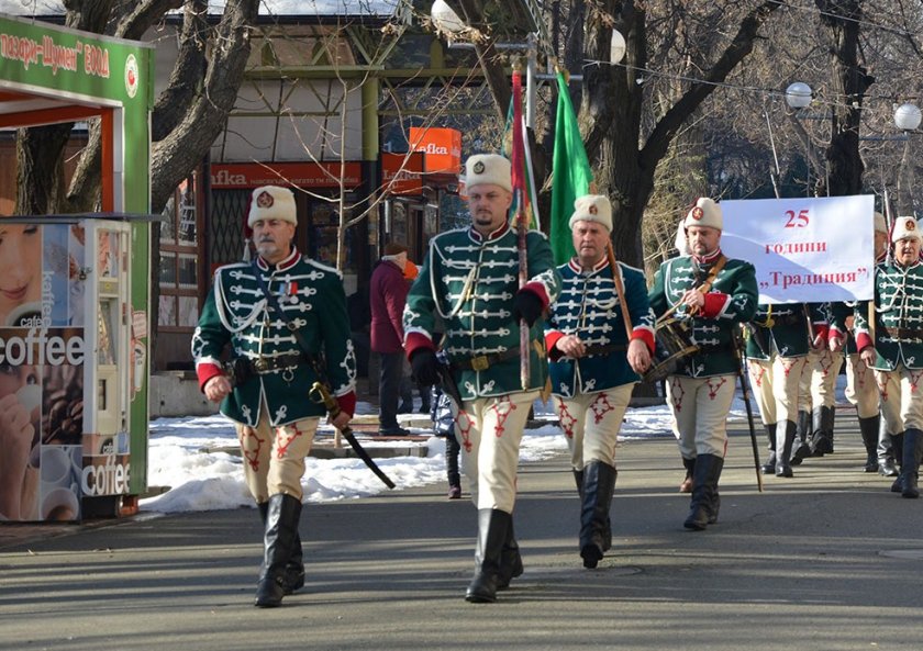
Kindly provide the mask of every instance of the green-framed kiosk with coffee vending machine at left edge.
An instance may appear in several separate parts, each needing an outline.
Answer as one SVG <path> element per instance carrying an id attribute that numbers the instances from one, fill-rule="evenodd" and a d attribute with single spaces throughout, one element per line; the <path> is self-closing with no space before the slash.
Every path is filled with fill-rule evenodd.
<path id="1" fill-rule="evenodd" d="M 0 216 L 0 520 L 127 515 L 146 490 L 152 66 L 0 14 L 0 128 L 99 120 L 104 211 Z"/>

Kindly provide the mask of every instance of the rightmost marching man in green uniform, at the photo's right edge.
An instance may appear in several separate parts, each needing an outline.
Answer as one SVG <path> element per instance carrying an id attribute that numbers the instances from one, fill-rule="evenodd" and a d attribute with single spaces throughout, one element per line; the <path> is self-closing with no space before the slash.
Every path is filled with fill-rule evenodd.
<path id="1" fill-rule="evenodd" d="M 903 450 L 901 473 L 891 491 L 904 497 L 919 497 L 918 476 L 923 456 L 923 263 L 920 262 L 921 234 L 916 220 L 898 217 L 891 242 L 894 260 L 875 269 L 876 323 L 868 319 L 868 304 L 856 306 L 856 347 L 863 360 L 890 382 L 882 382 L 889 401 L 900 396 Z M 888 412 L 886 412 L 888 414 Z M 899 431 L 899 429 L 892 429 Z"/>

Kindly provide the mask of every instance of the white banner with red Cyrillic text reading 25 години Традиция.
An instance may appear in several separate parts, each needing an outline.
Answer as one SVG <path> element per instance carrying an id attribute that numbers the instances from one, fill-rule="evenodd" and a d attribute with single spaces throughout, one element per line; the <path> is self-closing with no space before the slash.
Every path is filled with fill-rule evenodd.
<path id="1" fill-rule="evenodd" d="M 871 194 L 729 200 L 721 210 L 721 250 L 753 262 L 760 303 L 871 299 Z"/>

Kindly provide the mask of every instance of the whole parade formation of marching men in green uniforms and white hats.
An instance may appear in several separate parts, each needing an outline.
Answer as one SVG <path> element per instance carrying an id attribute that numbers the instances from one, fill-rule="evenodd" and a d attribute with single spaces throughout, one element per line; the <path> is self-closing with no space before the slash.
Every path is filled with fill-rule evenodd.
<path id="1" fill-rule="evenodd" d="M 612 548 L 619 429 L 640 382 L 661 384 L 672 416 L 686 469 L 680 490 L 691 493 L 687 529 L 719 521 L 736 391 L 748 413 L 750 386 L 756 399 L 758 415 L 749 418 L 761 491 L 760 472 L 792 478 L 793 465 L 834 452 L 834 389 L 844 360 L 867 451 L 860 470 L 894 476 L 891 491 L 919 496 L 923 265 L 913 217 L 897 217 L 889 237 L 883 215 L 868 215 L 867 238 L 877 243 L 871 301 L 767 302 L 760 292 L 770 283 L 758 280 L 754 263 L 722 250 L 726 220 L 710 198 L 680 216 L 678 255 L 660 265 L 648 289 L 643 271 L 614 257 L 607 197 L 577 198 L 568 223 L 576 255 L 556 266 L 544 234 L 518 235 L 511 225 L 511 179 L 503 156 L 468 158 L 470 225 L 430 240 L 400 324 L 415 381 L 449 397 L 448 436 L 460 448 L 477 510 L 466 601 L 496 602 L 523 572 L 513 527 L 516 470 L 536 400 L 553 401 L 570 452 L 580 497 L 576 550 L 587 569 Z M 192 352 L 202 391 L 237 427 L 265 525 L 255 605 L 275 607 L 304 583 L 303 458 L 324 413 L 349 431 L 355 360 L 340 276 L 292 245 L 291 192 L 254 190 L 248 224 L 257 256 L 218 269 Z M 225 345 L 230 362 L 221 360 Z M 325 400 L 316 399 L 319 389 Z M 756 417 L 768 439 L 761 463 Z"/>

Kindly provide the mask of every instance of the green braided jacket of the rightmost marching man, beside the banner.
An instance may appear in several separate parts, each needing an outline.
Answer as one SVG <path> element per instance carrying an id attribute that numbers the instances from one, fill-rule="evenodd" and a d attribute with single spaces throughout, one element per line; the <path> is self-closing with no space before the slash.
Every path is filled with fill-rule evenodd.
<path id="1" fill-rule="evenodd" d="M 868 301 L 856 305 L 855 333 L 859 350 L 874 345 L 876 369 L 892 371 L 898 364 L 923 369 L 923 263 L 897 262 L 875 268 L 875 335 L 869 328 Z"/>

